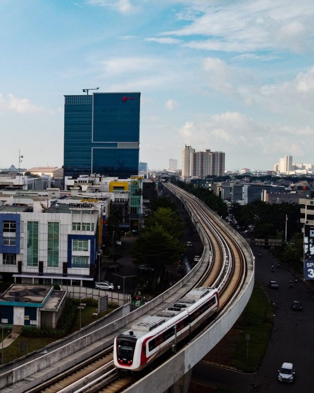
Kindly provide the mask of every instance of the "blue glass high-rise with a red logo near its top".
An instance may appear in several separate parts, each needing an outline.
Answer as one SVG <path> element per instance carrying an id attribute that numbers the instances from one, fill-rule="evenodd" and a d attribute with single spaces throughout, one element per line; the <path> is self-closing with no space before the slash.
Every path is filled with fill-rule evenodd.
<path id="1" fill-rule="evenodd" d="M 140 93 L 64 97 L 64 176 L 137 175 Z"/>

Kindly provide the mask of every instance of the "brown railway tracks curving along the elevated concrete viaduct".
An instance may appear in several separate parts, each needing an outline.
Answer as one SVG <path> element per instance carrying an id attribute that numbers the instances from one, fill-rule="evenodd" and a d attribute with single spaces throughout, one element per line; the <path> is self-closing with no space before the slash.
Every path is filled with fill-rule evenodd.
<path id="1" fill-rule="evenodd" d="M 196 286 L 214 286 L 220 294 L 220 310 L 217 318 L 236 298 L 247 272 L 245 255 L 234 236 L 213 212 L 194 196 L 168 184 L 167 189 L 185 200 L 194 223 L 203 232 L 207 244 L 199 263 L 207 260 L 207 268 Z M 215 321 L 211 322 L 214 323 Z M 208 329 L 208 327 L 206 328 Z M 172 355 L 171 355 L 172 356 Z M 53 378 L 27 393 L 98 393 L 122 392 L 136 383 L 136 378 L 121 378 L 113 366 L 112 347 L 68 370 L 64 375 Z"/>

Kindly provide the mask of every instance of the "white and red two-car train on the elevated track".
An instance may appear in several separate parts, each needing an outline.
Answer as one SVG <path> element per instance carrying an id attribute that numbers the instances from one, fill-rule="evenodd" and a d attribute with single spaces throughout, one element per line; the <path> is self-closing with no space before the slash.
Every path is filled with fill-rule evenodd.
<path id="1" fill-rule="evenodd" d="M 171 307 L 133 325 L 114 339 L 114 365 L 140 371 L 171 349 L 219 307 L 216 288 L 195 288 Z"/>

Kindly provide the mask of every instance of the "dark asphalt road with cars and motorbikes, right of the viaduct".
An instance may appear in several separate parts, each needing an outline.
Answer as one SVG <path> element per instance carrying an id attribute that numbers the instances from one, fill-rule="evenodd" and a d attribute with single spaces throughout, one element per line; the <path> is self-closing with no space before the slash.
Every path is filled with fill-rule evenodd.
<path id="1" fill-rule="evenodd" d="M 295 284 L 294 275 L 287 268 L 277 268 L 277 260 L 263 248 L 252 246 L 252 250 L 256 256 L 255 278 L 265 289 L 270 301 L 277 305 L 277 308 L 274 308 L 274 326 L 270 341 L 260 367 L 255 374 L 248 375 L 199 363 L 193 369 L 191 380 L 239 393 L 287 391 L 312 393 L 314 391 L 313 290 L 303 281 L 299 280 Z M 261 257 L 258 256 L 259 252 Z M 278 290 L 269 288 L 270 279 L 277 281 Z M 293 281 L 292 288 L 289 288 L 290 280 Z M 303 311 L 292 310 L 294 300 L 302 303 Z M 289 386 L 277 380 L 278 369 L 283 362 L 291 362 L 296 368 L 295 381 Z"/>

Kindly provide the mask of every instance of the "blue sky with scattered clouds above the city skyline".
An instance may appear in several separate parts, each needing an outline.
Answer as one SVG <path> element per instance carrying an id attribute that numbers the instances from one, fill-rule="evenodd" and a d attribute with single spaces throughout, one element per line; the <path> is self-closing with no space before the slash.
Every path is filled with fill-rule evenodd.
<path id="1" fill-rule="evenodd" d="M 140 161 L 313 163 L 312 0 L 0 0 L 0 168 L 62 166 L 64 95 L 141 92 Z M 91 93 L 92 91 L 90 91 Z"/>

